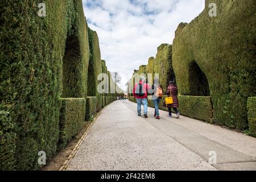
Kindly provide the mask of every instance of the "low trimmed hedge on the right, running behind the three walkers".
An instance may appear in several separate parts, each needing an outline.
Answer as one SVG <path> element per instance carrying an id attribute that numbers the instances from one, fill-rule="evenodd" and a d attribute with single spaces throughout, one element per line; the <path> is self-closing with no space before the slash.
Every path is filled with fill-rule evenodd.
<path id="1" fill-rule="evenodd" d="M 159 109 L 168 111 L 167 107 L 163 106 L 163 101 L 167 96 L 164 96 L 159 104 Z M 129 97 L 131 102 L 135 102 L 134 97 Z M 178 96 L 179 100 L 179 111 L 181 115 L 189 118 L 199 119 L 208 123 L 213 122 L 213 109 L 212 100 L 210 97 L 199 97 L 199 96 Z M 154 107 L 152 100 L 148 100 L 148 106 Z"/>

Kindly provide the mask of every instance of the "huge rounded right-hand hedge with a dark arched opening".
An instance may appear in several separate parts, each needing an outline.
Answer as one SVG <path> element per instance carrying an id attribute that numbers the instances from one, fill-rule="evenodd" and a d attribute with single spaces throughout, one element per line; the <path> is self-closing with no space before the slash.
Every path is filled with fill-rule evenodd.
<path id="1" fill-rule="evenodd" d="M 209 3 L 216 3 L 217 17 L 208 15 Z M 247 98 L 256 95 L 255 7 L 252 0 L 207 0 L 203 13 L 179 25 L 173 42 L 180 94 L 209 92 L 214 123 L 237 130 L 247 129 Z M 199 80 L 196 67 L 208 83 L 204 75 Z"/>

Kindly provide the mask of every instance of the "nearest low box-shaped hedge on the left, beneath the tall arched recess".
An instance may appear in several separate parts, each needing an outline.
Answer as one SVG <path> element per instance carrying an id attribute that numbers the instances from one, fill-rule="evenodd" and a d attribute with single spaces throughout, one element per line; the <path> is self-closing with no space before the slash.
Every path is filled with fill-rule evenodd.
<path id="1" fill-rule="evenodd" d="M 61 98 L 58 148 L 64 148 L 85 123 L 85 98 Z"/>

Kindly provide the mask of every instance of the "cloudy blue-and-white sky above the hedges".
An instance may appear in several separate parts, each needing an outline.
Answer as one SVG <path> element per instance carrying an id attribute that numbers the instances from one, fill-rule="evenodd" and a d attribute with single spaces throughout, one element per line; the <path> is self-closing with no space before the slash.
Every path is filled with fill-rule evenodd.
<path id="1" fill-rule="evenodd" d="M 97 31 L 101 59 L 126 82 L 162 43 L 172 44 L 180 22 L 191 22 L 205 0 L 82 0 L 88 26 Z"/>

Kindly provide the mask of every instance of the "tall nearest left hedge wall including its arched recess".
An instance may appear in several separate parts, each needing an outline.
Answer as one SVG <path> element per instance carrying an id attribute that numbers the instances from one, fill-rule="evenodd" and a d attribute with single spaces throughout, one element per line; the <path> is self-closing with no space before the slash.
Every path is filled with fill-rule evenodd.
<path id="1" fill-rule="evenodd" d="M 0 1 L 0 108 L 14 123 L 10 132 L 1 129 L 6 151 L 1 149 L 0 161 L 8 169 L 38 169 L 39 151 L 54 155 L 60 97 L 86 96 L 89 46 L 82 2 L 44 3 L 47 16 L 39 17 L 39 1 Z"/>

